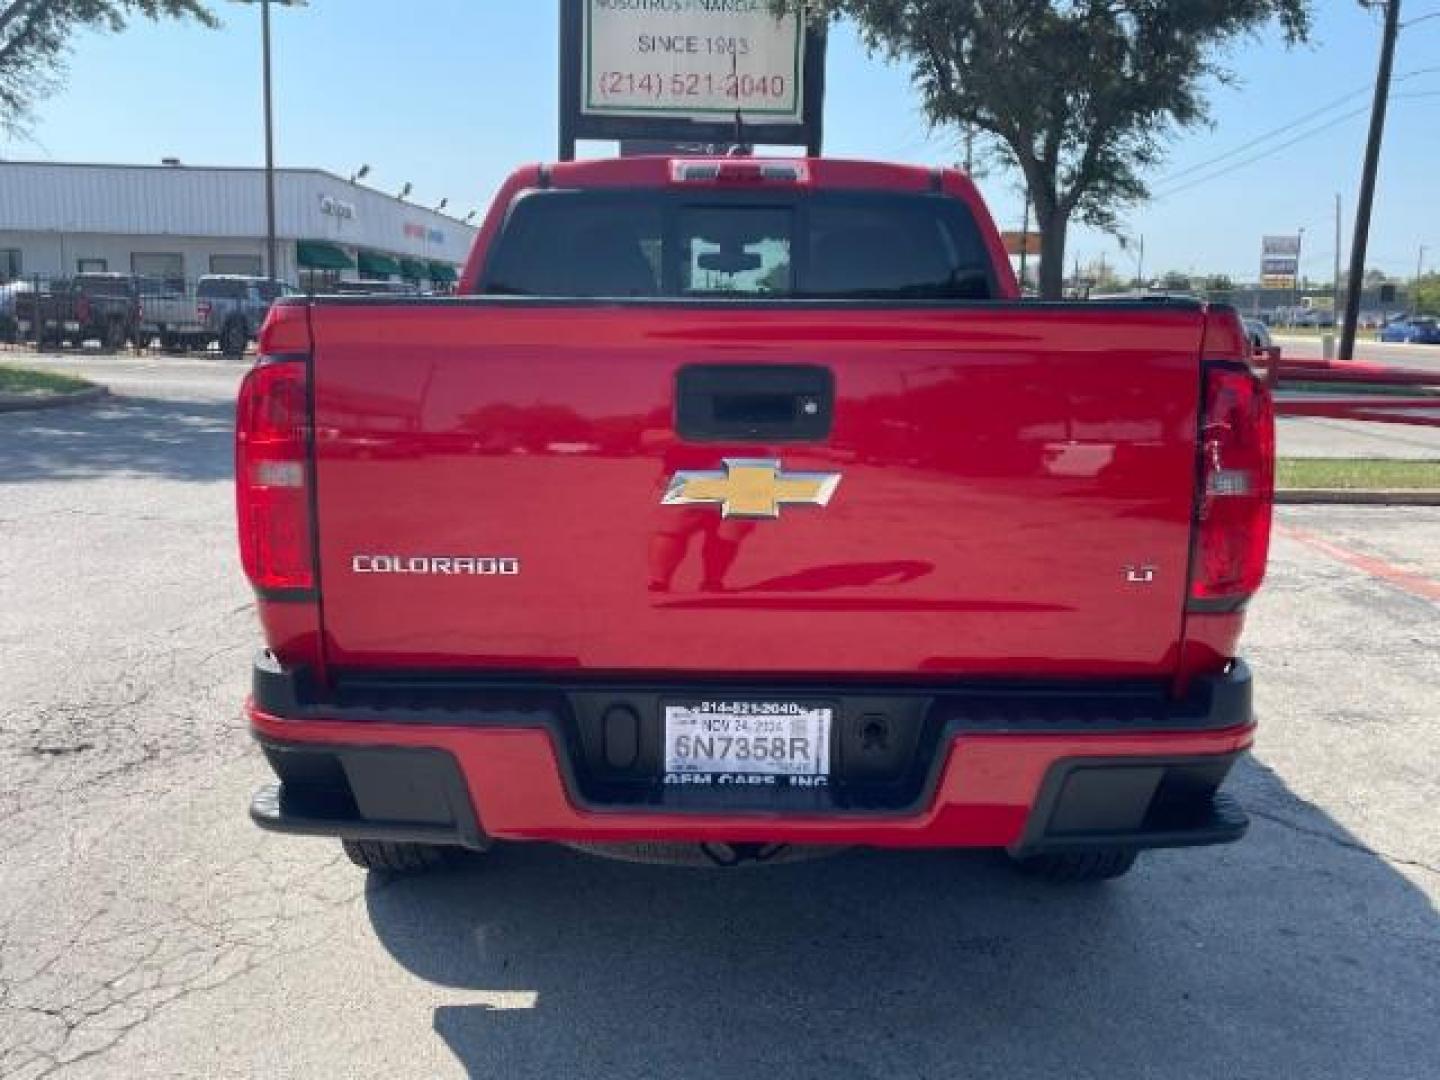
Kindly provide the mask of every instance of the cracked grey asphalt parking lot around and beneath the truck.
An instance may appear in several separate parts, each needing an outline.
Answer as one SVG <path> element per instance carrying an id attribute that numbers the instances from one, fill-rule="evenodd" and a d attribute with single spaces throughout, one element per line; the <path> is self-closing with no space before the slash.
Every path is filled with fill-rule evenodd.
<path id="1" fill-rule="evenodd" d="M 1238 845 L 739 873 L 265 835 L 219 360 L 0 416 L 0 1076 L 1440 1074 L 1440 508 L 1287 507 Z"/>

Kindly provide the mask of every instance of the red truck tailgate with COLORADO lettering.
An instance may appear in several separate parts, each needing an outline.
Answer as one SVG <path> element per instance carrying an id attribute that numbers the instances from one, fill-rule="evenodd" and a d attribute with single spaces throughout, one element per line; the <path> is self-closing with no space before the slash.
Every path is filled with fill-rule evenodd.
<path id="1" fill-rule="evenodd" d="M 1166 675 L 1202 328 L 1198 305 L 318 301 L 328 662 Z M 683 369 L 795 364 L 832 376 L 828 433 L 677 435 Z M 834 494 L 662 503 L 677 472 L 723 492 L 726 461 Z"/>

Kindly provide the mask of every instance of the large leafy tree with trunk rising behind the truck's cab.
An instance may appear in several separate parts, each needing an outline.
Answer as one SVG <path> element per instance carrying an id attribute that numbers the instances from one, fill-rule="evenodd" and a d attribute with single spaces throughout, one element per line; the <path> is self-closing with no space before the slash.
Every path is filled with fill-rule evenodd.
<path id="1" fill-rule="evenodd" d="M 772 0 L 850 17 L 873 52 L 909 63 L 935 125 L 973 128 L 1020 168 L 1060 297 L 1073 220 L 1115 230 L 1143 171 L 1210 118 L 1205 88 L 1233 81 L 1237 39 L 1272 22 L 1287 43 L 1310 0 Z"/>

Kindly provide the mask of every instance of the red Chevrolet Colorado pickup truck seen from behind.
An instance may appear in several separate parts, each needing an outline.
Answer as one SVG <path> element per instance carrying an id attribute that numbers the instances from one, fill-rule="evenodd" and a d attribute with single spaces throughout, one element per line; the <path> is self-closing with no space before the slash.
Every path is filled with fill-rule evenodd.
<path id="1" fill-rule="evenodd" d="M 1236 312 L 1021 302 L 960 173 L 527 167 L 459 295 L 282 300 L 239 397 L 269 829 L 1238 838 L 1273 419 Z"/>

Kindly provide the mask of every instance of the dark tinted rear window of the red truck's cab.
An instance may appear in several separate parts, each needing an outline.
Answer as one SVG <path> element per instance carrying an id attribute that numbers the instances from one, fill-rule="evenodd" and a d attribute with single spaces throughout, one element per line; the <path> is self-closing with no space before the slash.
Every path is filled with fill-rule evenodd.
<path id="1" fill-rule="evenodd" d="M 531 192 L 481 292 L 547 298 L 991 300 L 969 209 L 936 194 Z"/>

